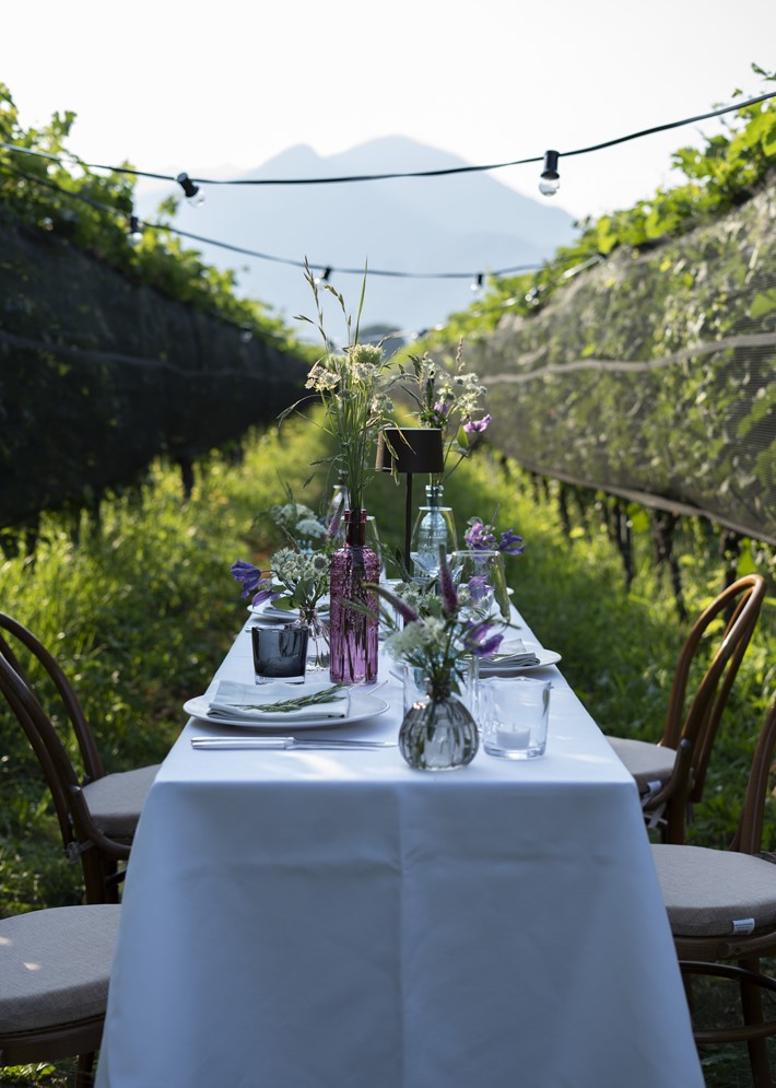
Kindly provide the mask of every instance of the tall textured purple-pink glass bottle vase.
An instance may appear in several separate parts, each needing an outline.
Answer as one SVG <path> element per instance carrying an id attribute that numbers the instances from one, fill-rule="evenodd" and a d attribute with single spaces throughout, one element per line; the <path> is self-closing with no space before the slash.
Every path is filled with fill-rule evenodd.
<path id="1" fill-rule="evenodd" d="M 377 598 L 364 589 L 378 583 L 380 561 L 364 543 L 366 511 L 345 511 L 345 542 L 331 558 L 329 645 L 334 683 L 372 683 L 377 679 Z M 366 616 L 348 607 L 355 601 L 373 611 Z"/>

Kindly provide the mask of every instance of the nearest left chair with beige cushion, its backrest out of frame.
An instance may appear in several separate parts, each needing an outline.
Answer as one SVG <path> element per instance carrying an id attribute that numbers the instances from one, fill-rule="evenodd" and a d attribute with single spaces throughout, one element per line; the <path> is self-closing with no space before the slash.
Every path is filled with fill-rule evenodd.
<path id="1" fill-rule="evenodd" d="M 56 906 L 0 920 L 0 1066 L 79 1055 L 74 1088 L 92 1084 L 120 911 Z"/>

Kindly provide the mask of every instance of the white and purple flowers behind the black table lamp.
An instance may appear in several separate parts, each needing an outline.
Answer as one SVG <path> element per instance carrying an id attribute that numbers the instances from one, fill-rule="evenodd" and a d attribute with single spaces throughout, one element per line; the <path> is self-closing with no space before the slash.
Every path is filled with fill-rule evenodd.
<path id="1" fill-rule="evenodd" d="M 412 399 L 421 426 L 443 432 L 445 468 L 439 476 L 432 477 L 433 483 L 444 483 L 463 458 L 471 455 L 493 420 L 490 414 L 474 419 L 480 411 L 480 399 L 487 390 L 473 371 L 467 372 L 462 350 L 459 341 L 451 370 L 434 362 L 427 352 L 422 356 L 410 355 L 411 368 L 399 364 L 400 373 L 391 383 Z M 457 459 L 448 468 L 451 455 Z"/>

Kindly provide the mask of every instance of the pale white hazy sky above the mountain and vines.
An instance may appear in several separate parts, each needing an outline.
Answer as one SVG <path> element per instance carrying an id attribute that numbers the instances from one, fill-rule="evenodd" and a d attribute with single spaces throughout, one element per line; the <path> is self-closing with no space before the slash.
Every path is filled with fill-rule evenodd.
<path id="1" fill-rule="evenodd" d="M 25 127 L 74 110 L 89 162 L 224 176 L 389 134 L 475 164 L 573 150 L 776 90 L 751 71 L 775 46 L 776 0 L 35 0 L 3 13 L 0 80 Z M 554 199 L 627 207 L 698 130 L 718 122 L 562 160 Z M 494 172 L 531 196 L 537 175 Z"/>

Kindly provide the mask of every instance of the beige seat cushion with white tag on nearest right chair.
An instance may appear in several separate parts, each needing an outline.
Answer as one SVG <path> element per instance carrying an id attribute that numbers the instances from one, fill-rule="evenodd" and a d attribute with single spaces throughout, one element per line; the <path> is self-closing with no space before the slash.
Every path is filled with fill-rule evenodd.
<path id="1" fill-rule="evenodd" d="M 652 844 L 652 856 L 674 936 L 730 936 L 776 923 L 776 865 L 771 862 L 669 843 Z"/>

